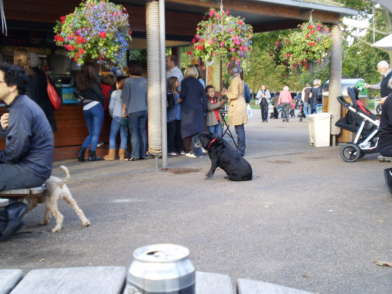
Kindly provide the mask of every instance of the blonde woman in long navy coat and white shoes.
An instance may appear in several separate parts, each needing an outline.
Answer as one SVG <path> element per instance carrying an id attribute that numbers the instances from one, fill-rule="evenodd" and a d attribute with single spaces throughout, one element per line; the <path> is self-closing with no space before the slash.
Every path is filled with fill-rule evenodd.
<path id="1" fill-rule="evenodd" d="M 181 81 L 181 138 L 191 137 L 195 142 L 198 134 L 206 130 L 205 113 L 207 111 L 207 96 L 201 83 L 197 80 L 198 72 L 194 65 L 188 65 Z M 185 154 L 189 157 L 201 158 L 203 151 L 201 147 L 194 147 L 192 151 Z"/>

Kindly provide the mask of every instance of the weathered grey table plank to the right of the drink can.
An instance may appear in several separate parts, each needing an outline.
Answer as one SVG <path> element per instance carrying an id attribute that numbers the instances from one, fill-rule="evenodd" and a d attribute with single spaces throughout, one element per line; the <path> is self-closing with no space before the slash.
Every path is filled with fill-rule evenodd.
<path id="1" fill-rule="evenodd" d="M 314 294 L 311 292 L 289 288 L 281 285 L 237 279 L 237 294 Z"/>

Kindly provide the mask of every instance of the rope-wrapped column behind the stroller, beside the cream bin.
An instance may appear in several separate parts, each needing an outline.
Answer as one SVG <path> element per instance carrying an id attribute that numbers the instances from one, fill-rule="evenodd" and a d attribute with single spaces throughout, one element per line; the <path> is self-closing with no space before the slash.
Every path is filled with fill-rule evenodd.
<path id="1" fill-rule="evenodd" d="M 331 59 L 329 62 L 328 112 L 332 114 L 330 133 L 332 135 L 337 135 L 340 133 L 340 128 L 336 127 L 335 123 L 340 118 L 341 106 L 336 98 L 341 95 L 343 36 L 338 25 L 331 25 L 331 34 L 333 43 Z"/>

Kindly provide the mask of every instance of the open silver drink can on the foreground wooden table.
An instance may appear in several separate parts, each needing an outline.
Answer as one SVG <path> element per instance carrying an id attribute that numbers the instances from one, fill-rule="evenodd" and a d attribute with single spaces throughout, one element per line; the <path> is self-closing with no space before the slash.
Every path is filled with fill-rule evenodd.
<path id="1" fill-rule="evenodd" d="M 172 244 L 144 246 L 133 252 L 127 294 L 195 294 L 195 265 L 189 250 Z"/>

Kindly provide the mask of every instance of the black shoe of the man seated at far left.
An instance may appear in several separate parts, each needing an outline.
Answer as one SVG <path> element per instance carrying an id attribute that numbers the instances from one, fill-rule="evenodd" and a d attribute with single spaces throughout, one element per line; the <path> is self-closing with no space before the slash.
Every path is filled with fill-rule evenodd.
<path id="1" fill-rule="evenodd" d="M 7 225 L 5 225 L 4 230 L 1 232 L 0 242 L 8 240 L 24 226 L 22 218 L 27 212 L 27 207 L 28 205 L 26 203 L 19 201 L 4 207 Z"/>

